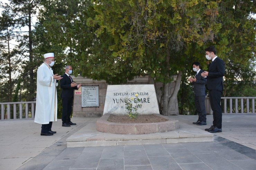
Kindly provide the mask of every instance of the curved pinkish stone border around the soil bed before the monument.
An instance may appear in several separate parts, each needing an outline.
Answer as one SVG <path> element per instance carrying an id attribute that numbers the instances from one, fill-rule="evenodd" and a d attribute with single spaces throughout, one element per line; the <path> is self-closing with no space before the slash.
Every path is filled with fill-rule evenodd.
<path id="1" fill-rule="evenodd" d="M 165 118 L 161 114 L 154 115 Z M 109 116 L 110 114 L 104 114 L 97 120 L 97 131 L 114 134 L 151 134 L 179 129 L 179 121 L 174 119 L 155 123 L 115 123 L 107 121 Z"/>

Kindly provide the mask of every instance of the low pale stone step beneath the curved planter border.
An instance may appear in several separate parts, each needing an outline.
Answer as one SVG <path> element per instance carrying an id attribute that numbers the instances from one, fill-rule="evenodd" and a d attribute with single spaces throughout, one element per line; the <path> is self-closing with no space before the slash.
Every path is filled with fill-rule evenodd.
<path id="1" fill-rule="evenodd" d="M 173 118 L 173 116 L 171 116 Z M 166 119 L 172 119 L 165 117 Z M 83 127 L 66 139 L 67 147 L 121 146 L 137 144 L 165 144 L 184 142 L 212 142 L 213 133 L 179 121 L 179 129 L 152 134 L 113 134 L 96 130 L 96 121 L 88 118 Z"/>

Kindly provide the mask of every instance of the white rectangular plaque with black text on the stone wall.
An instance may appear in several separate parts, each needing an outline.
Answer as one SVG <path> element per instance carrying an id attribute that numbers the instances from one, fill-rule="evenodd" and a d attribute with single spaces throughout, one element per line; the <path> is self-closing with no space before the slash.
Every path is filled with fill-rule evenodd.
<path id="1" fill-rule="evenodd" d="M 99 86 L 82 86 L 82 107 L 99 107 Z"/>

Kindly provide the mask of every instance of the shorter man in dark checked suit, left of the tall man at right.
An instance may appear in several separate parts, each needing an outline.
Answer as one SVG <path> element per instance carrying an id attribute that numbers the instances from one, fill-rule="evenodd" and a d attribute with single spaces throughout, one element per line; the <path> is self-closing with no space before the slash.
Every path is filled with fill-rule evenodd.
<path id="1" fill-rule="evenodd" d="M 206 125 L 206 111 L 205 111 L 205 86 L 207 80 L 201 76 L 203 70 L 200 69 L 200 63 L 194 62 L 192 64 L 193 71 L 196 72 L 194 78 L 190 77 L 189 81 L 194 84 L 194 95 L 195 95 L 195 108 L 198 112 L 198 120 L 193 122 L 197 125 Z"/>

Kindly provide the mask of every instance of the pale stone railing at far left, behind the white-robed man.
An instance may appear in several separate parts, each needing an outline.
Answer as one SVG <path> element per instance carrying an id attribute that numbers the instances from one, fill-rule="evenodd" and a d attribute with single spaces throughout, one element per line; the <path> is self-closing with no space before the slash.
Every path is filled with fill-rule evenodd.
<path id="1" fill-rule="evenodd" d="M 35 104 L 35 101 L 0 103 L 1 120 L 34 119 Z"/>

